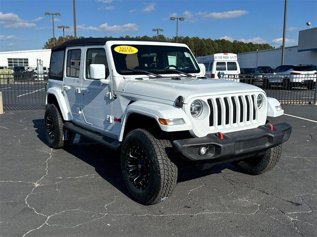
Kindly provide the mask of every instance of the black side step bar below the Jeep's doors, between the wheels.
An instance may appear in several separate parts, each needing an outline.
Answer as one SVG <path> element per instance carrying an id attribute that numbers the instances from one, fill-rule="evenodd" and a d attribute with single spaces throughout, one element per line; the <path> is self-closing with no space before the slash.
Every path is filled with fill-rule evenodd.
<path id="1" fill-rule="evenodd" d="M 64 126 L 66 129 L 68 129 L 72 132 L 78 133 L 84 137 L 87 137 L 91 140 L 94 140 L 98 143 L 101 143 L 101 144 L 105 145 L 106 147 L 109 147 L 109 148 L 114 149 L 114 150 L 118 149 L 120 144 L 121 144 L 118 140 L 116 140 L 114 138 L 106 137 L 106 136 L 103 136 L 101 134 L 89 131 L 89 130 L 84 129 L 80 126 L 74 125 L 71 122 L 65 122 Z"/>

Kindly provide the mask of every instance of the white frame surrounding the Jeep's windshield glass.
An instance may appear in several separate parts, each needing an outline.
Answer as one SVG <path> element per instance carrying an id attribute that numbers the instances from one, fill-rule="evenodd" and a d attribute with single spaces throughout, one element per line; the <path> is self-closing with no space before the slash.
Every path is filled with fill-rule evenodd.
<path id="1" fill-rule="evenodd" d="M 107 47 L 107 51 L 110 53 L 108 54 L 108 56 L 110 56 L 109 58 L 111 59 L 111 63 L 114 67 L 115 71 L 117 74 L 119 74 L 120 76 L 140 76 L 140 75 L 146 75 L 148 77 L 152 77 L 150 76 L 149 74 L 146 74 L 145 72 L 122 72 L 123 70 L 119 70 L 118 66 L 117 66 L 117 61 L 116 61 L 116 56 L 115 56 L 115 51 L 114 51 L 114 48 L 117 47 L 117 46 L 120 46 L 120 45 L 124 45 L 124 46 L 132 46 L 132 47 L 138 47 L 138 46 L 149 46 L 149 47 L 156 47 L 156 46 L 159 46 L 159 47 L 173 47 L 173 48 L 184 48 L 182 52 L 187 52 L 188 54 L 190 54 L 191 58 L 192 58 L 192 63 L 195 65 L 195 67 L 197 67 L 197 70 L 193 70 L 191 72 L 188 72 L 188 70 L 182 70 L 182 69 L 176 69 L 176 70 L 179 70 L 179 71 L 184 71 L 187 72 L 187 73 L 191 73 L 191 74 L 201 74 L 201 69 L 197 63 L 197 60 L 196 58 L 194 57 L 194 55 L 192 54 L 191 50 L 184 44 L 178 44 L 178 43 L 161 43 L 161 42 L 149 42 L 149 41 L 146 41 L 146 42 L 143 42 L 143 41 L 129 41 L 129 42 L 125 42 L 125 41 L 112 41 L 111 45 L 107 45 L 106 44 L 106 47 Z M 130 69 L 129 69 L 130 70 Z M 151 69 L 151 70 L 148 70 L 150 72 L 153 72 L 153 73 L 156 73 L 156 71 L 159 70 L 160 72 L 157 73 L 159 75 L 163 75 L 163 77 L 165 76 L 168 76 L 168 75 L 179 75 L 180 73 L 177 73 L 177 72 L 173 72 L 173 71 L 168 71 L 166 70 L 163 71 L 164 69 L 161 69 L 161 68 L 156 68 L 156 69 Z M 162 70 L 162 71 L 161 71 Z M 147 71 L 145 69 L 145 71 Z"/>

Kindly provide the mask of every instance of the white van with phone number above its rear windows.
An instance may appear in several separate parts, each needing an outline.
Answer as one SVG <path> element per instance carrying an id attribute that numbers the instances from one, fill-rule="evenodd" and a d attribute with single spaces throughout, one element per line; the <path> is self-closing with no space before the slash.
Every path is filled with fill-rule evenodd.
<path id="1" fill-rule="evenodd" d="M 204 57 L 197 57 L 197 61 L 198 63 L 205 65 L 205 76 L 207 78 L 235 78 L 235 81 L 238 81 L 240 67 L 237 61 L 237 55 L 235 53 L 216 53 Z"/>

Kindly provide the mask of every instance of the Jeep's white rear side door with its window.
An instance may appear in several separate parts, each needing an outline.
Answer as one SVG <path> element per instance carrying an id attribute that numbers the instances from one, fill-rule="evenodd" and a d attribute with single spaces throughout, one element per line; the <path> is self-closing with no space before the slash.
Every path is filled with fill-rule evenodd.
<path id="1" fill-rule="evenodd" d="M 81 120 L 81 77 L 82 54 L 84 47 L 66 49 L 63 91 L 73 120 Z"/>

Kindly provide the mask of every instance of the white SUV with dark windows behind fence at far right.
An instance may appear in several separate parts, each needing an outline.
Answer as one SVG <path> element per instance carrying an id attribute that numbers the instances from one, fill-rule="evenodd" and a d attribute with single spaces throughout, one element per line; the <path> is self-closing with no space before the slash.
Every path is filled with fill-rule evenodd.
<path id="1" fill-rule="evenodd" d="M 317 70 L 315 65 L 281 65 L 263 80 L 263 87 L 282 86 L 284 90 L 305 86 L 308 89 L 316 85 Z"/>

